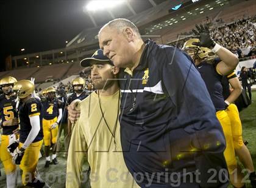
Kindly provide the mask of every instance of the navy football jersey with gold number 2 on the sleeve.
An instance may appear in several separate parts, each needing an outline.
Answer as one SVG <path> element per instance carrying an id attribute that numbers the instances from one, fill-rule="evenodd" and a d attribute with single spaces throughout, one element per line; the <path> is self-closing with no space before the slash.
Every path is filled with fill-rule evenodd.
<path id="1" fill-rule="evenodd" d="M 19 118 L 20 118 L 20 142 L 24 143 L 27 139 L 27 136 L 29 135 L 29 132 L 31 130 L 31 124 L 30 124 L 30 116 L 40 116 L 40 131 L 35 137 L 33 143 L 40 141 L 43 139 L 43 127 L 42 127 L 42 104 L 41 102 L 36 98 L 30 98 L 25 103 L 20 104 L 19 108 Z"/>

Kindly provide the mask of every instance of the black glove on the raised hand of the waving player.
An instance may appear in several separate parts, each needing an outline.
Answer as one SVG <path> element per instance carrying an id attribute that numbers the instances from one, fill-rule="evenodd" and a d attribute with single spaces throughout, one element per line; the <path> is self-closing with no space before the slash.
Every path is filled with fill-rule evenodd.
<path id="1" fill-rule="evenodd" d="M 208 49 L 213 49 L 215 47 L 215 41 L 210 36 L 210 31 L 208 25 L 196 25 L 196 29 L 193 29 L 195 35 L 199 36 L 199 42 L 193 42 L 193 45 L 198 45 L 200 47 L 207 47 Z"/>

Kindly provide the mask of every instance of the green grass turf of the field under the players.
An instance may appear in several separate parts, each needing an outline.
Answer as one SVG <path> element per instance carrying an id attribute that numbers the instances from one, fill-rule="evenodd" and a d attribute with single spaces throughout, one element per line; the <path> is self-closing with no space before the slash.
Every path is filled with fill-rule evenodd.
<path id="1" fill-rule="evenodd" d="M 252 92 L 252 102 L 251 106 L 244 109 L 240 112 L 240 118 L 243 124 L 243 139 L 247 140 L 249 144 L 247 145 L 248 149 L 251 152 L 252 161 L 254 162 L 254 167 L 256 167 L 256 91 Z M 61 140 L 63 140 L 61 138 Z M 51 165 L 49 169 L 44 169 L 44 158 L 41 158 L 38 163 L 38 171 L 40 172 L 41 178 L 44 179 L 46 176 L 51 177 L 52 174 L 58 175 L 57 178 L 48 182 L 49 186 L 52 188 L 60 188 L 65 187 L 65 172 L 66 172 L 66 158 L 64 158 L 63 153 L 59 153 L 59 165 L 54 166 Z M 85 163 L 84 169 L 88 168 L 88 164 Z M 2 176 L 0 176 L 0 188 L 4 188 L 5 186 L 5 175 L 2 164 L 0 163 L 0 169 L 2 172 Z M 21 180 L 19 179 L 19 186 L 21 187 Z M 88 184 L 83 187 L 89 187 Z M 229 186 L 230 188 L 233 186 Z M 249 183 L 246 184 L 247 188 L 251 188 Z"/>

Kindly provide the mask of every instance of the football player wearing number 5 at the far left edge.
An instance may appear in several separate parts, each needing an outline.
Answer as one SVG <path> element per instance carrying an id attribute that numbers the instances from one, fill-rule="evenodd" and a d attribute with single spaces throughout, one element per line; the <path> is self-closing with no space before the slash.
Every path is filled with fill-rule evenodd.
<path id="1" fill-rule="evenodd" d="M 7 146 L 12 144 L 17 139 L 14 134 L 18 129 L 18 113 L 16 112 L 16 96 L 13 92 L 13 85 L 17 82 L 16 78 L 7 76 L 0 80 L 0 86 L 4 95 L 0 98 L 0 115 L 2 136 L 0 144 L 0 159 L 4 165 L 6 174 L 7 188 L 15 187 L 17 180 L 16 165 L 12 163 L 12 156 L 7 151 Z"/>

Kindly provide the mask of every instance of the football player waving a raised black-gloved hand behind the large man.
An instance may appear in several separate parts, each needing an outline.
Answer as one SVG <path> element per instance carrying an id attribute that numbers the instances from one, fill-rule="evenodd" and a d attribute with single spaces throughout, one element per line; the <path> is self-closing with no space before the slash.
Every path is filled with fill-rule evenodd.
<path id="1" fill-rule="evenodd" d="M 226 138 L 224 156 L 227 169 L 229 170 L 230 181 L 235 187 L 243 187 L 243 174 L 238 169 L 235 158 L 231 123 L 225 111 L 227 105 L 222 94 L 221 85 L 222 76 L 229 75 L 230 72 L 233 72 L 233 69 L 238 64 L 238 58 L 210 38 L 207 25 L 200 25 L 200 27 L 196 25 L 196 28 L 197 30 L 193 31 L 200 39 L 189 39 L 183 45 L 183 50 L 194 59 L 196 67 L 202 79 L 205 81 L 205 85 L 215 106 L 216 116 L 221 123 Z"/>

